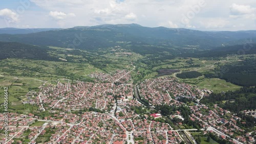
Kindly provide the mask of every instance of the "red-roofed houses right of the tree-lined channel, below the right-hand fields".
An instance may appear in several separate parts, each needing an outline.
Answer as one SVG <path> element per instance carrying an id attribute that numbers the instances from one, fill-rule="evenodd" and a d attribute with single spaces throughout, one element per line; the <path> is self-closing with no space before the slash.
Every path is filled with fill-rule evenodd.
<path id="1" fill-rule="evenodd" d="M 140 83 L 141 96 L 151 105 L 169 104 L 173 98 L 187 96 L 196 99 L 201 94 L 195 86 L 178 83 L 175 78 L 148 79 Z"/>

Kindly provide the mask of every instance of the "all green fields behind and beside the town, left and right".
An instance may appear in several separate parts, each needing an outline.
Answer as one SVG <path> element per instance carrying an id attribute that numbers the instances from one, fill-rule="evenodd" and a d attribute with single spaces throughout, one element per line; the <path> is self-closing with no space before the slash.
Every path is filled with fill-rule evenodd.
<path id="1" fill-rule="evenodd" d="M 10 111 L 21 113 L 32 112 L 36 107 L 24 105 L 25 96 L 29 91 L 38 91 L 42 84 L 56 85 L 64 79 L 93 81 L 88 75 L 95 72 L 112 73 L 116 69 L 132 70 L 134 84 L 144 79 L 156 78 L 158 69 L 169 68 L 181 71 L 196 70 L 200 73 L 211 71 L 227 62 L 227 58 L 199 59 L 199 58 L 170 58 L 162 60 L 149 60 L 152 55 L 140 55 L 122 47 L 109 47 L 99 49 L 97 53 L 84 50 L 71 50 L 61 47 L 50 47 L 49 54 L 67 61 L 47 61 L 30 59 L 4 59 L 0 61 L 0 99 L 4 97 L 3 88 L 9 87 Z M 228 62 L 242 60 L 245 57 L 229 56 Z M 131 64 L 133 63 L 133 65 Z M 161 76 L 167 77 L 167 76 Z M 178 78 L 179 79 L 179 78 Z M 195 79 L 179 79 L 180 82 L 196 85 L 200 89 L 209 89 L 214 92 L 236 90 L 240 86 L 220 79 L 206 79 L 204 76 Z"/>

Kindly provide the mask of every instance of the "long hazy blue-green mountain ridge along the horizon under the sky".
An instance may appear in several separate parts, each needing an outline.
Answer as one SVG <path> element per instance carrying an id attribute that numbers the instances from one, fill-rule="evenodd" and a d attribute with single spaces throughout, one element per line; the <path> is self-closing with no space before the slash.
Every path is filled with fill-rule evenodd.
<path id="1" fill-rule="evenodd" d="M 248 38 L 256 39 L 256 31 L 204 32 L 188 29 L 148 28 L 137 24 L 74 27 L 30 34 L 1 34 L 0 41 L 22 42 L 75 49 L 97 50 L 109 46 L 127 45 L 192 47 L 210 49 L 222 44 L 241 44 Z M 157 51 L 156 49 L 155 51 Z"/>

